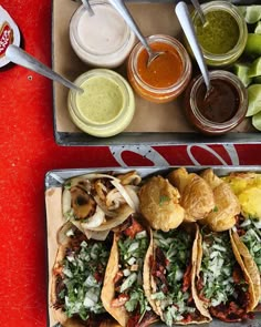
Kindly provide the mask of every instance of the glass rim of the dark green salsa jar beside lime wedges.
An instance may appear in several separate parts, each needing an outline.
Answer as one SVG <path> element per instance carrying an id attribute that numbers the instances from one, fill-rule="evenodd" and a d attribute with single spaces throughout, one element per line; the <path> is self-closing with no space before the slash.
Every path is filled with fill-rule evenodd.
<path id="1" fill-rule="evenodd" d="M 247 28 L 247 23 L 242 17 L 241 12 L 238 10 L 238 8 L 234 4 L 232 4 L 231 2 L 228 2 L 228 1 L 210 1 L 207 3 L 202 3 L 201 9 L 202 9 L 203 13 L 215 11 L 216 9 L 223 10 L 232 16 L 232 18 L 236 20 L 238 28 L 239 28 L 238 42 L 228 52 L 221 53 L 221 54 L 211 53 L 201 47 L 206 60 L 211 61 L 212 65 L 215 65 L 216 61 L 217 62 L 219 62 L 219 61 L 225 62 L 225 64 L 226 64 L 227 61 L 230 62 L 230 60 L 237 60 L 238 57 L 240 55 L 240 53 L 243 51 L 243 48 L 244 48 L 244 45 L 247 43 L 247 39 L 248 39 L 248 28 Z M 198 12 L 195 10 L 192 12 L 192 20 L 195 21 L 196 19 L 200 19 L 200 18 L 199 18 Z M 242 51 L 241 51 L 241 49 L 242 49 Z"/>

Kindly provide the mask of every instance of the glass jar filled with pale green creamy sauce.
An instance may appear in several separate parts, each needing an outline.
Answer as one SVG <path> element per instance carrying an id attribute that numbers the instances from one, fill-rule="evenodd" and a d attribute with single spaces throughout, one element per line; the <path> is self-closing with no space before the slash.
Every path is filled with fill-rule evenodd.
<path id="1" fill-rule="evenodd" d="M 93 69 L 75 80 L 84 90 L 69 91 L 69 113 L 75 125 L 93 136 L 108 137 L 132 122 L 135 99 L 128 82 L 107 69 Z"/>

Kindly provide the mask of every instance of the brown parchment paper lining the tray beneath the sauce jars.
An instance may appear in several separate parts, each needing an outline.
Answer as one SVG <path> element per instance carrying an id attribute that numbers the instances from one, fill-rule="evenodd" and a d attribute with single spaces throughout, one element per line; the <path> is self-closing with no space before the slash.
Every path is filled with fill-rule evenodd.
<path id="1" fill-rule="evenodd" d="M 181 31 L 175 14 L 174 3 L 143 2 L 127 4 L 134 19 L 145 35 L 169 34 L 181 40 Z M 79 3 L 71 0 L 53 1 L 53 69 L 75 80 L 90 67 L 84 64 L 74 53 L 69 39 L 69 24 Z M 196 65 L 196 64 L 195 64 Z M 116 69 L 126 76 L 125 64 Z M 136 95 L 136 113 L 126 132 L 192 132 L 182 108 L 182 95 L 167 104 L 148 102 Z M 80 132 L 71 121 L 67 112 L 67 89 L 54 84 L 54 108 L 58 132 Z M 246 119 L 233 132 L 253 131 L 251 122 Z"/>

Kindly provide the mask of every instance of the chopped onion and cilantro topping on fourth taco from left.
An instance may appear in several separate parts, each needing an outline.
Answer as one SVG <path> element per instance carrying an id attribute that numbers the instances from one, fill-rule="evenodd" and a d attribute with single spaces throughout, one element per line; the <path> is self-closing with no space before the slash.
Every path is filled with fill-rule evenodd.
<path id="1" fill-rule="evenodd" d="M 211 306 L 226 304 L 234 293 L 232 274 L 236 258 L 229 234 L 226 232 L 205 235 L 202 249 L 200 276 L 203 283 L 203 296 L 210 299 Z"/>

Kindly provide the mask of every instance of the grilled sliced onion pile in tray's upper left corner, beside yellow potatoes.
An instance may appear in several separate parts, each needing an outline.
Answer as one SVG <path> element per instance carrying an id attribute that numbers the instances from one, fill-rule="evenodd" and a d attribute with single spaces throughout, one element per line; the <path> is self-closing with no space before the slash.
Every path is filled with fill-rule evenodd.
<path id="1" fill-rule="evenodd" d="M 105 239 L 112 228 L 138 211 L 140 181 L 135 171 L 117 176 L 86 174 L 67 180 L 62 195 L 63 216 L 88 238 Z"/>

